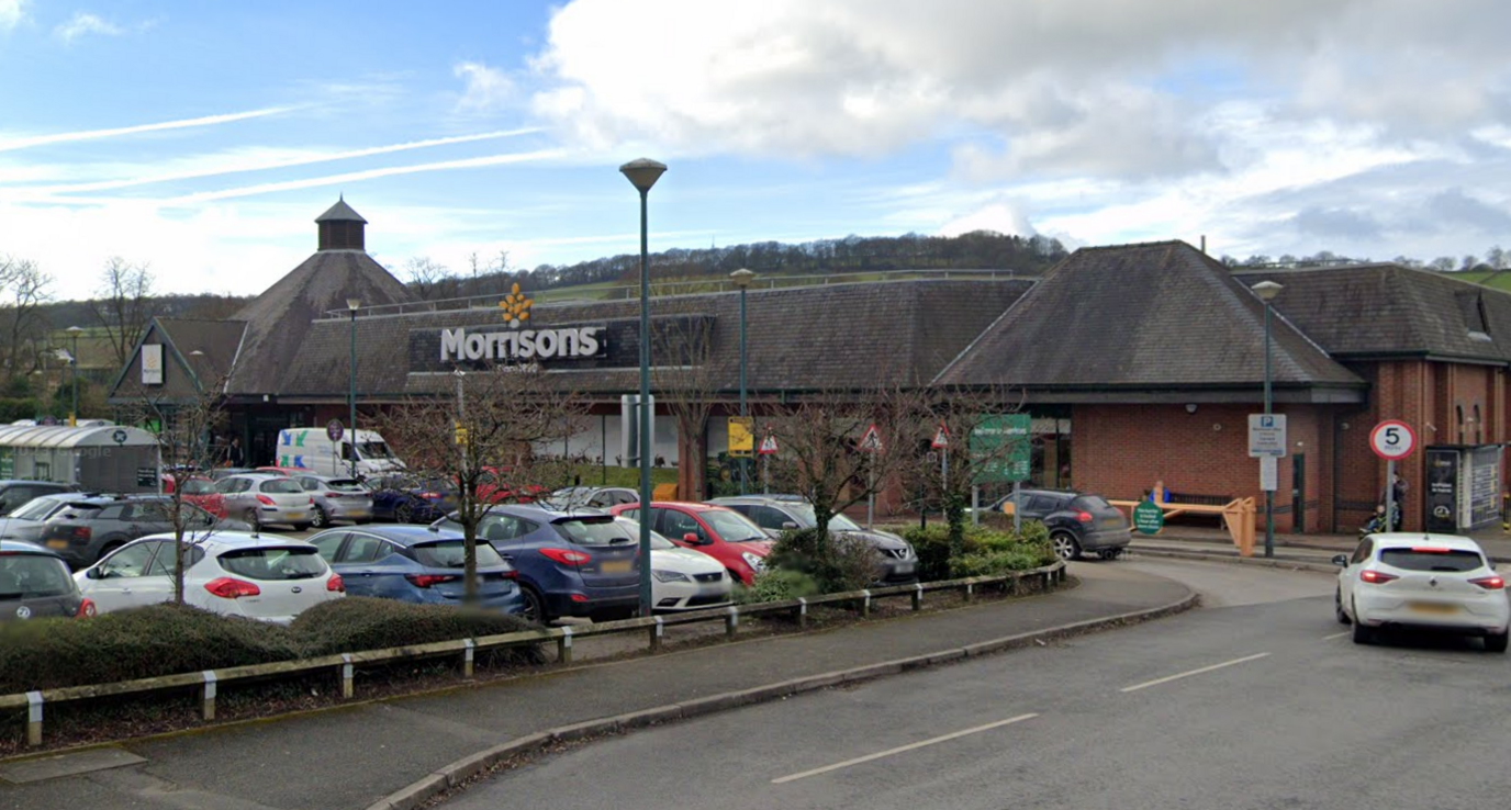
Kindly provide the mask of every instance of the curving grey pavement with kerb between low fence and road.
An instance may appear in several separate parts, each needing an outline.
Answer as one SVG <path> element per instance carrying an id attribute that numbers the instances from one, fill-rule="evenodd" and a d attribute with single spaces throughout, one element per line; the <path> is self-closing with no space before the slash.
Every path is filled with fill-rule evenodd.
<path id="1" fill-rule="evenodd" d="M 0 762 L 0 807 L 408 810 L 485 766 L 565 740 L 964 660 L 1195 604 L 1117 564 L 1074 586 L 839 629 L 592 662 L 409 698 Z M 904 601 L 905 604 L 905 601 Z M 722 629 L 722 626 L 719 626 Z M 668 642 L 677 636 L 668 629 Z M 623 650 L 621 647 L 615 651 Z M 358 680 L 358 697 L 361 695 Z"/>

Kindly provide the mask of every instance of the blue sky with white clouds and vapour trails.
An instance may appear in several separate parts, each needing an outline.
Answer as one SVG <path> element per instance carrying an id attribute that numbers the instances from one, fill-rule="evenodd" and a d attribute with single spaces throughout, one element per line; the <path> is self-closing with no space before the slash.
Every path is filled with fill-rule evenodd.
<path id="1" fill-rule="evenodd" d="M 0 0 L 0 257 L 261 292 L 345 193 L 467 272 L 846 234 L 1511 246 L 1499 0 Z"/>

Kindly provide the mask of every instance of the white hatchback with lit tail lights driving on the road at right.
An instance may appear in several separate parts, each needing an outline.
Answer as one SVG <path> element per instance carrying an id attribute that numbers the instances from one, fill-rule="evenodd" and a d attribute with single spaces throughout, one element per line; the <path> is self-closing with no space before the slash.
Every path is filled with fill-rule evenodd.
<path id="1" fill-rule="evenodd" d="M 1481 636 L 1506 651 L 1511 600 L 1505 580 L 1467 536 L 1390 532 L 1366 535 L 1352 556 L 1337 555 L 1334 609 L 1367 644 L 1383 627 L 1419 627 Z"/>

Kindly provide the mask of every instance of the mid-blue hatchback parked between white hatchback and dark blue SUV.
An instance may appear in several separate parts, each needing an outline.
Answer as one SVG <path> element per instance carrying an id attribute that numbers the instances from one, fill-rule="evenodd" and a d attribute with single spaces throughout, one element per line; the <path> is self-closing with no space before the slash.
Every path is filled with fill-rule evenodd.
<path id="1" fill-rule="evenodd" d="M 352 526 L 310 538 L 354 597 L 420 604 L 461 604 L 465 561 L 461 532 L 426 526 Z M 524 614 L 517 573 L 499 552 L 477 543 L 477 606 Z"/>

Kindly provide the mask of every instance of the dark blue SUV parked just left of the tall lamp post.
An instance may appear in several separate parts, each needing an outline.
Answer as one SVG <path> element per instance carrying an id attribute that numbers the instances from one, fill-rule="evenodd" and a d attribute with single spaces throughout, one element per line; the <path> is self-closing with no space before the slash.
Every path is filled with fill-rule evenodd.
<path id="1" fill-rule="evenodd" d="M 452 514 L 434 529 L 459 533 Z M 477 526 L 520 573 L 524 617 L 629 618 L 639 609 L 639 538 L 598 509 L 561 511 L 539 503 L 500 503 Z"/>

